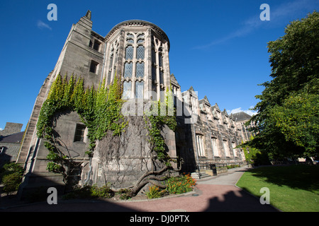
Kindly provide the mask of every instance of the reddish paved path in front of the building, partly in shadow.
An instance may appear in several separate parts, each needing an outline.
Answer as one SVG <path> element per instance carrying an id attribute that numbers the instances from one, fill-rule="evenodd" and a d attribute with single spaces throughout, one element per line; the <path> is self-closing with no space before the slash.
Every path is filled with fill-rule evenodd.
<path id="1" fill-rule="evenodd" d="M 112 203 L 108 201 L 63 201 L 57 205 L 38 203 L 30 206 L 9 208 L 5 211 L 276 211 L 270 205 L 262 205 L 259 199 L 237 188 L 235 183 L 246 168 L 230 169 L 226 174 L 220 174 L 213 179 L 198 180 L 196 191 L 191 194 L 174 198 L 159 198 L 150 201 L 125 201 Z"/>

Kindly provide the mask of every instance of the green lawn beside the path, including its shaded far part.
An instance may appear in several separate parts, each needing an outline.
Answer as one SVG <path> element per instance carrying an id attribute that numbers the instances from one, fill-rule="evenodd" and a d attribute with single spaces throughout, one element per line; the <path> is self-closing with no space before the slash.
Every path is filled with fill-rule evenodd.
<path id="1" fill-rule="evenodd" d="M 259 167 L 242 175 L 236 184 L 254 196 L 269 188 L 270 204 L 284 212 L 319 212 L 319 166 Z"/>

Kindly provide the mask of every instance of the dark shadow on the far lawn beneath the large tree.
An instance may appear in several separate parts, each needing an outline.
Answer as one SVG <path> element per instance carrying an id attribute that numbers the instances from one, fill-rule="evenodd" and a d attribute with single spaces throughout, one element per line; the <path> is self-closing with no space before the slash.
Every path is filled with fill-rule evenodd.
<path id="1" fill-rule="evenodd" d="M 278 186 L 289 186 L 319 194 L 318 165 L 271 166 L 251 169 L 254 177 L 262 177 L 265 182 Z"/>

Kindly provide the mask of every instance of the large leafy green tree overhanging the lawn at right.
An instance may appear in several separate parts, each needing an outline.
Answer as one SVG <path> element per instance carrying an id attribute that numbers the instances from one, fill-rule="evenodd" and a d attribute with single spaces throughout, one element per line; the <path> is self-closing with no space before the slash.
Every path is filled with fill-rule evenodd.
<path id="1" fill-rule="evenodd" d="M 268 43 L 272 81 L 250 121 L 257 135 L 245 145 L 272 158 L 318 154 L 319 13 L 295 20 L 285 35 Z"/>

